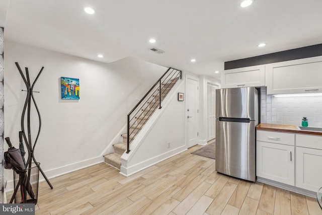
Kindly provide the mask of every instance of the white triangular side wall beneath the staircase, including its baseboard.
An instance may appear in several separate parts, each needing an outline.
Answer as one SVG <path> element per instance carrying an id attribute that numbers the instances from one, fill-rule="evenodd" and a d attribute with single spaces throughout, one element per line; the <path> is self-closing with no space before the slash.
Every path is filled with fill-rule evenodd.
<path id="1" fill-rule="evenodd" d="M 142 127 L 137 136 L 135 136 L 130 145 L 131 151 L 128 154 L 124 153 L 121 156 L 122 165 L 120 174 L 124 176 L 130 176 L 140 170 L 143 170 L 149 166 L 152 166 L 160 161 L 168 159 L 187 150 L 185 144 L 185 103 L 183 101 L 177 100 L 178 92 L 185 92 L 184 83 L 184 79 L 178 80 L 178 82 L 174 85 L 168 96 L 163 101 L 162 108 L 154 111 L 154 113 Z M 168 148 L 167 142 L 158 144 L 158 140 L 152 141 L 153 143 L 147 144 L 146 141 L 148 141 L 149 138 L 151 139 L 151 136 L 149 136 L 149 134 L 158 131 L 162 132 L 166 129 L 169 129 L 167 127 L 159 129 L 157 128 L 157 126 L 159 126 L 158 121 L 165 120 L 165 114 L 171 114 L 171 111 L 169 111 L 168 109 L 170 106 L 175 106 L 178 109 L 175 110 L 176 112 L 172 114 L 174 114 L 174 117 L 179 117 L 179 120 L 175 120 L 174 123 L 178 123 L 178 129 L 180 129 L 180 138 L 174 138 L 174 135 L 170 136 L 170 133 L 173 132 L 172 130 L 170 130 L 168 132 L 169 134 L 166 134 L 169 135 L 169 139 L 174 140 L 174 142 L 171 142 L 172 145 L 170 148 Z M 142 156 L 142 150 L 146 151 L 146 148 L 152 149 L 150 149 L 148 153 L 145 153 L 144 156 Z"/>

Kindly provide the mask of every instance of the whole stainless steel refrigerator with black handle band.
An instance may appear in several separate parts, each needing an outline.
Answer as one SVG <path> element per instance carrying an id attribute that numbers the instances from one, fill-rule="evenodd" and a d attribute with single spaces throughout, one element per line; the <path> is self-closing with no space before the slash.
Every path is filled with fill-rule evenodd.
<path id="1" fill-rule="evenodd" d="M 256 180 L 258 91 L 254 87 L 216 90 L 216 171 Z"/>

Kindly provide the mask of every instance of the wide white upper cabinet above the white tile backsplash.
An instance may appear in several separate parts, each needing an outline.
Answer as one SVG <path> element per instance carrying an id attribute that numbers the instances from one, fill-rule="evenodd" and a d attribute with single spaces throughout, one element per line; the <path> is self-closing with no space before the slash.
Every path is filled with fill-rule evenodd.
<path id="1" fill-rule="evenodd" d="M 266 64 L 267 94 L 322 92 L 322 56 Z"/>

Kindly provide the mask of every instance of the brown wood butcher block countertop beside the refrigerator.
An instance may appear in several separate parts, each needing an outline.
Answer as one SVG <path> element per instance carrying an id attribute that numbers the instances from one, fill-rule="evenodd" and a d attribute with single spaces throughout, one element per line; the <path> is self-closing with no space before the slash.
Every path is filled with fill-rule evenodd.
<path id="1" fill-rule="evenodd" d="M 308 130 L 299 130 L 296 125 L 279 125 L 279 124 L 266 124 L 261 123 L 257 125 L 257 130 L 269 130 L 269 131 L 282 131 L 290 133 L 303 133 L 303 134 L 314 134 L 322 135 L 322 132 L 319 131 L 308 131 Z"/>

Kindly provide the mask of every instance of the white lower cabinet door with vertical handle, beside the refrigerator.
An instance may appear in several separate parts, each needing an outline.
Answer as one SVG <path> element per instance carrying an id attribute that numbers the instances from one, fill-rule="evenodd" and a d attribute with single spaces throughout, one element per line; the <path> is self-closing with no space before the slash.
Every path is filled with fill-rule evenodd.
<path id="1" fill-rule="evenodd" d="M 256 175 L 294 186 L 294 146 L 257 141 Z"/>

